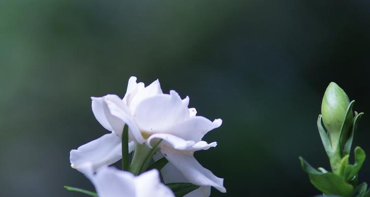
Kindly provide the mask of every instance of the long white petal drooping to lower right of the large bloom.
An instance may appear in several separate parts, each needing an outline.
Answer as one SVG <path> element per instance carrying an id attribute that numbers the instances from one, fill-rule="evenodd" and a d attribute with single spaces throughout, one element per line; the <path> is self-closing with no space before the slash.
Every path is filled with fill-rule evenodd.
<path id="1" fill-rule="evenodd" d="M 175 150 L 168 146 L 162 146 L 161 152 L 171 164 L 183 173 L 190 183 L 213 186 L 222 193 L 226 192 L 223 187 L 223 179 L 215 176 L 210 170 L 199 164 L 195 160 L 193 152 Z"/>

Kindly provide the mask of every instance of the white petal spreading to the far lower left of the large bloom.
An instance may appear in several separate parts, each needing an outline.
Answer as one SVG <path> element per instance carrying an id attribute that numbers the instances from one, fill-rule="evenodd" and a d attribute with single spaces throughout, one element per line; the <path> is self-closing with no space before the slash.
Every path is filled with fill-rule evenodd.
<path id="1" fill-rule="evenodd" d="M 129 152 L 135 143 L 129 143 Z M 121 139 L 112 132 L 72 150 L 70 153 L 71 166 L 84 172 L 85 164 L 91 164 L 93 171 L 102 166 L 114 164 L 122 158 Z"/>

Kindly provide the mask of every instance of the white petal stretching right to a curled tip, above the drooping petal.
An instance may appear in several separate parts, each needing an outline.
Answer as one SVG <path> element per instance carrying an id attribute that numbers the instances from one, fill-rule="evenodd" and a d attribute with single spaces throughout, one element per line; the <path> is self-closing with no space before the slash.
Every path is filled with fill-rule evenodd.
<path id="1" fill-rule="evenodd" d="M 185 140 L 200 141 L 203 136 L 213 129 L 220 127 L 221 119 L 211 122 L 202 116 L 195 116 L 184 120 L 170 128 L 163 130 L 164 133 L 171 133 Z"/>

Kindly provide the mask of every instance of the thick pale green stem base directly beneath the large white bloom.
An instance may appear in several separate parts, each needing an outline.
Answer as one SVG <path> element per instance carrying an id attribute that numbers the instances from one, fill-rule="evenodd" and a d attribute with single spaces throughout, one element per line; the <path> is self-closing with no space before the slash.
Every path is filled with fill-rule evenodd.
<path id="1" fill-rule="evenodd" d="M 148 169 L 150 161 L 161 141 L 162 140 L 156 142 L 154 146 L 152 146 L 153 148 L 149 148 L 148 146 L 139 143 L 136 144 L 134 156 L 130 165 L 130 171 L 133 174 L 138 175 Z"/>

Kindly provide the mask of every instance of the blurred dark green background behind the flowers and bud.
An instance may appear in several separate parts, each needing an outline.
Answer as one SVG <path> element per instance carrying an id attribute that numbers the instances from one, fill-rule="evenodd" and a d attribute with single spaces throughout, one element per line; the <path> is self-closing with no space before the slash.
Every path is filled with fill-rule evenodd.
<path id="1" fill-rule="evenodd" d="M 316 128 L 335 81 L 364 111 L 370 153 L 367 0 L 1 0 L 0 192 L 79 197 L 92 190 L 69 152 L 107 133 L 91 96 L 159 78 L 222 127 L 196 153 L 224 178 L 213 197 L 313 196 L 298 156 L 329 168 Z M 370 162 L 360 172 L 370 181 Z"/>

